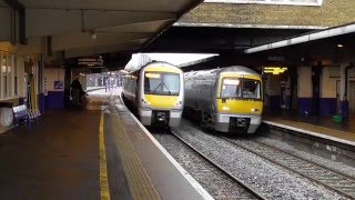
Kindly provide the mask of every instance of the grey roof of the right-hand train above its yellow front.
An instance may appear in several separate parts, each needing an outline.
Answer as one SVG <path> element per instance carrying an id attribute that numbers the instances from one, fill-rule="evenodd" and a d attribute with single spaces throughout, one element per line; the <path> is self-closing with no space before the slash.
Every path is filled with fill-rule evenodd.
<path id="1" fill-rule="evenodd" d="M 199 71 L 190 71 L 186 72 L 186 76 L 206 76 L 206 74 L 220 74 L 222 72 L 237 72 L 237 73 L 243 73 L 243 74 L 253 74 L 253 76 L 261 76 L 256 71 L 246 68 L 244 66 L 231 66 L 226 68 L 217 68 L 217 69 L 212 69 L 212 70 L 199 70 Z"/>

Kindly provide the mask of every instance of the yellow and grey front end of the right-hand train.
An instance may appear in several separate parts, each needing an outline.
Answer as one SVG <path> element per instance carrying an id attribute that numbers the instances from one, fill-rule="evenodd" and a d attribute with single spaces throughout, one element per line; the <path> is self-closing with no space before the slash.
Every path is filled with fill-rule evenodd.
<path id="1" fill-rule="evenodd" d="M 254 133 L 263 112 L 261 76 L 221 72 L 216 90 L 215 130 Z"/>

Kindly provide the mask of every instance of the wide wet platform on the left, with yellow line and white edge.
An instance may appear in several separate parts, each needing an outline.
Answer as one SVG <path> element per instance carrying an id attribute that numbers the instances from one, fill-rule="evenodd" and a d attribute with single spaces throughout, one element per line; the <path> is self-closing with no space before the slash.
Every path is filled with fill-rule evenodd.
<path id="1" fill-rule="evenodd" d="M 1 199 L 212 199 L 141 126 L 119 91 L 0 134 Z"/>

